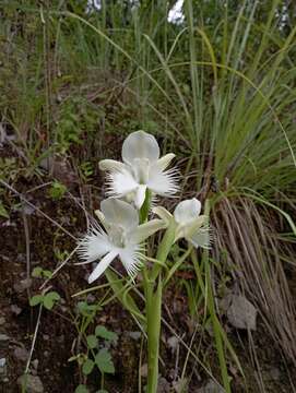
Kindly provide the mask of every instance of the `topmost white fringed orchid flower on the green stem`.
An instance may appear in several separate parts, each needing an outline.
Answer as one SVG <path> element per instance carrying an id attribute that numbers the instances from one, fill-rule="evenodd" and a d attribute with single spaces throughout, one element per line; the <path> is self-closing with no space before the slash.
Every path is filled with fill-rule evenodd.
<path id="1" fill-rule="evenodd" d="M 132 200 L 140 209 L 145 200 L 146 190 L 152 194 L 171 196 L 178 191 L 176 169 L 166 170 L 175 157 L 169 153 L 159 158 L 156 139 L 144 132 L 132 132 L 123 142 L 122 160 L 103 159 L 102 170 L 108 171 L 108 194 Z"/>

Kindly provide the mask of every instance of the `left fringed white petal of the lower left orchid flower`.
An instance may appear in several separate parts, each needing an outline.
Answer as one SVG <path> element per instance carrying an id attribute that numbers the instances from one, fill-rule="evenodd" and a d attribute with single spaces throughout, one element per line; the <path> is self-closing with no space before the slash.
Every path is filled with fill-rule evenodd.
<path id="1" fill-rule="evenodd" d="M 83 263 L 90 263 L 105 255 L 111 248 L 107 235 L 99 227 L 93 227 L 79 241 L 78 254 L 84 260 Z"/>

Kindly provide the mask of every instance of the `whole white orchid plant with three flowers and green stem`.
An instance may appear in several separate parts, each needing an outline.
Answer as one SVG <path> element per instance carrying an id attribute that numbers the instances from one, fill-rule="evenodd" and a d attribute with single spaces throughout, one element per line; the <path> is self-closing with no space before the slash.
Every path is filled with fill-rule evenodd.
<path id="1" fill-rule="evenodd" d="M 79 242 L 81 264 L 96 262 L 88 283 L 105 272 L 119 300 L 133 314 L 147 334 L 147 392 L 155 393 L 158 380 L 161 309 L 166 260 L 173 245 L 185 238 L 191 247 L 209 248 L 208 217 L 201 215 L 197 199 L 181 201 L 174 214 L 156 205 L 156 196 L 175 196 L 178 192 L 178 174 L 167 169 L 175 154 L 159 158 L 156 139 L 144 132 L 131 133 L 122 145 L 122 162 L 104 159 L 99 168 L 107 172 L 108 198 L 95 214 L 99 223 L 93 225 Z M 153 202 L 153 206 L 152 206 Z M 151 218 L 151 215 L 156 218 Z M 146 255 L 145 241 L 163 230 L 163 237 L 153 255 Z M 130 290 L 118 286 L 118 275 L 108 269 L 118 258 L 131 283 L 141 270 L 145 310 L 141 312 Z M 147 263 L 153 261 L 153 265 Z M 115 285 L 116 283 L 116 285 Z"/>

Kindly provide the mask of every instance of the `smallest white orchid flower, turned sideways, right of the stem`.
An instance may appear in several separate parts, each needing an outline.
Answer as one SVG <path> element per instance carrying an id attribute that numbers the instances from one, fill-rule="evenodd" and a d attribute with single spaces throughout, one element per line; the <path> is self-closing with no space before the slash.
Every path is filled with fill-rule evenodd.
<path id="1" fill-rule="evenodd" d="M 185 238 L 196 248 L 209 248 L 211 233 L 208 216 L 200 215 L 200 212 L 201 203 L 196 198 L 178 203 L 174 215 L 162 206 L 153 209 L 153 213 L 166 222 L 166 226 L 175 225 L 175 241 Z"/>

